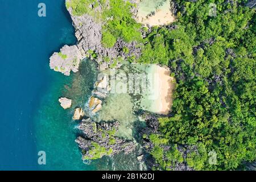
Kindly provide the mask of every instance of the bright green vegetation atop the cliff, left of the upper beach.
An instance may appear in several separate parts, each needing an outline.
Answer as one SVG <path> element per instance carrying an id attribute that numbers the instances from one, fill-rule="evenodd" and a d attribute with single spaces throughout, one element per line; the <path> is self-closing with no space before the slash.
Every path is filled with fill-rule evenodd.
<path id="1" fill-rule="evenodd" d="M 136 22 L 131 13 L 135 5 L 129 1 L 69 0 L 66 6 L 72 8 L 73 15 L 89 14 L 103 24 L 102 44 L 107 48 L 113 47 L 118 38 L 125 42 L 142 40 L 139 31 L 141 24 Z"/>

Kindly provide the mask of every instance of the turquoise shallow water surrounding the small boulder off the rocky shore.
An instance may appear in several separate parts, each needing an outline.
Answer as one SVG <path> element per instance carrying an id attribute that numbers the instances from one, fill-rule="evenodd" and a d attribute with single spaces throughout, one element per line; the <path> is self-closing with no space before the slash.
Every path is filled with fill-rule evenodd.
<path id="1" fill-rule="evenodd" d="M 83 68 L 83 69 L 82 69 Z M 88 101 L 96 81 L 96 65 L 93 61 L 85 60 L 80 71 L 71 76 L 58 77 L 53 80 L 46 94 L 40 98 L 36 111 L 36 142 L 38 151 L 45 151 L 46 165 L 40 169 L 49 170 L 93 170 L 93 165 L 82 163 L 81 152 L 75 143 L 79 131 L 78 122 L 72 121 L 73 109 Z M 71 109 L 60 107 L 58 98 L 65 96 L 72 99 Z"/>

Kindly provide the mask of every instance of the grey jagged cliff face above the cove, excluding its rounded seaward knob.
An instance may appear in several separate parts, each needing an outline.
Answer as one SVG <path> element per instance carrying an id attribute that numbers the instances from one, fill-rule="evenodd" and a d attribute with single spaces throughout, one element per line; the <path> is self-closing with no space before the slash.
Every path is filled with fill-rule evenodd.
<path id="1" fill-rule="evenodd" d="M 69 2 L 70 0 L 66 0 Z M 133 1 L 133 0 L 132 0 Z M 92 11 L 102 11 L 100 6 L 96 7 Z M 86 56 L 88 51 L 94 51 L 97 54 L 96 61 L 98 63 L 98 68 L 101 70 L 109 68 L 110 65 L 113 65 L 115 60 L 125 60 L 127 57 L 135 56 L 139 57 L 141 55 L 141 48 L 138 46 L 137 42 L 126 43 L 122 39 L 117 39 L 114 47 L 106 48 L 102 45 L 102 26 L 104 21 L 96 20 L 93 16 L 89 14 L 84 14 L 81 16 L 73 15 L 72 8 L 68 8 L 69 14 L 71 15 L 73 25 L 76 29 L 76 38 L 78 40 L 77 47 L 79 48 L 82 56 Z M 135 9 L 131 10 L 132 13 L 135 12 Z M 133 12 L 134 11 L 134 12 Z M 123 48 L 127 48 L 129 52 L 124 52 Z M 104 59 L 108 57 L 110 60 L 106 62 Z M 115 68 L 121 67 L 121 63 L 115 64 Z"/>

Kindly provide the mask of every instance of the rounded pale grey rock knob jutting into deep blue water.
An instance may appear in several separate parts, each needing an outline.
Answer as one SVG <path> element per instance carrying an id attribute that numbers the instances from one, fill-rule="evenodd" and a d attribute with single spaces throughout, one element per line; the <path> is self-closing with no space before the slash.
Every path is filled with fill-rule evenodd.
<path id="1" fill-rule="evenodd" d="M 56 72 L 61 72 L 66 76 L 70 72 L 77 72 L 79 70 L 80 60 L 83 59 L 81 52 L 77 46 L 65 45 L 60 49 L 60 52 L 55 52 L 50 57 L 49 66 Z"/>

